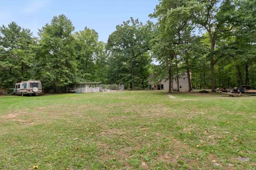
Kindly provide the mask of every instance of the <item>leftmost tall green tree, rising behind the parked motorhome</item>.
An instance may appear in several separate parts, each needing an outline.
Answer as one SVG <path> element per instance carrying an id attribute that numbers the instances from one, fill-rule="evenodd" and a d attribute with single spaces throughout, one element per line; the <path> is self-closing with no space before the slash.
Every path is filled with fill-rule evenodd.
<path id="1" fill-rule="evenodd" d="M 0 87 L 12 87 L 17 81 L 30 79 L 30 45 L 32 32 L 11 22 L 0 27 Z"/>

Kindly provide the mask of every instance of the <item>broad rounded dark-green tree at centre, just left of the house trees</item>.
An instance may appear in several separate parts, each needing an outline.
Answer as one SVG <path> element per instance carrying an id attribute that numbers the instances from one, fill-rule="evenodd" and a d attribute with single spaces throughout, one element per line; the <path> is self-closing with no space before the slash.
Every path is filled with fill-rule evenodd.
<path id="1" fill-rule="evenodd" d="M 153 23 L 143 25 L 139 20 L 123 22 L 108 38 L 109 78 L 112 83 L 142 87 L 148 77 L 151 62 L 149 40 Z"/>

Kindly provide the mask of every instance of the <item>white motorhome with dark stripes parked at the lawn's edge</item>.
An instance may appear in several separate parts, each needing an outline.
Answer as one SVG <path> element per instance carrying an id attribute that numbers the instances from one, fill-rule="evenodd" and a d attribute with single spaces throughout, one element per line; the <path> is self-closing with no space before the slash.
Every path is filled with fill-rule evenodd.
<path id="1" fill-rule="evenodd" d="M 14 87 L 14 95 L 32 95 L 40 94 L 42 92 L 41 81 L 28 80 L 16 83 Z"/>

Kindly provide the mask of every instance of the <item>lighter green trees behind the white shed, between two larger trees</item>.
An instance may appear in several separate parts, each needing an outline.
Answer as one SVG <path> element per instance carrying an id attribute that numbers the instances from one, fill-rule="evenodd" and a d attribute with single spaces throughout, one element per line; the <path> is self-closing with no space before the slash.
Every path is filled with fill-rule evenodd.
<path id="1" fill-rule="evenodd" d="M 85 28 L 83 31 L 75 32 L 75 39 L 78 81 L 106 82 L 107 55 L 105 44 L 98 41 L 98 33 Z"/>

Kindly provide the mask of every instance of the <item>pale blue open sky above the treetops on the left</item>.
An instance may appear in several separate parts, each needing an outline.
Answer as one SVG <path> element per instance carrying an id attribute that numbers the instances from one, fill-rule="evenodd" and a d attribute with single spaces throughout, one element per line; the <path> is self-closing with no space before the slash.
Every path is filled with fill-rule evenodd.
<path id="1" fill-rule="evenodd" d="M 150 20 L 158 0 L 0 0 L 0 25 L 14 21 L 33 31 L 50 23 L 53 16 L 64 14 L 75 26 L 75 31 L 85 27 L 99 33 L 105 43 L 116 25 L 130 17 L 145 23 Z"/>

